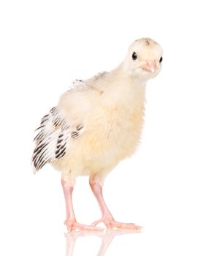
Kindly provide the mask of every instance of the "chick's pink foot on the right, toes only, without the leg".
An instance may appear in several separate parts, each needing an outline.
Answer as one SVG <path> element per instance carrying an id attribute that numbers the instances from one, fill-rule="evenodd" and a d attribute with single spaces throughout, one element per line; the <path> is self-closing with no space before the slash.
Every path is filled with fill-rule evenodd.
<path id="1" fill-rule="evenodd" d="M 135 225 L 134 223 L 123 223 L 123 222 L 116 222 L 115 219 L 111 217 L 102 217 L 101 219 L 96 220 L 93 222 L 92 225 L 95 227 L 99 223 L 103 222 L 107 228 L 121 228 L 126 230 L 141 230 L 142 227 Z"/>

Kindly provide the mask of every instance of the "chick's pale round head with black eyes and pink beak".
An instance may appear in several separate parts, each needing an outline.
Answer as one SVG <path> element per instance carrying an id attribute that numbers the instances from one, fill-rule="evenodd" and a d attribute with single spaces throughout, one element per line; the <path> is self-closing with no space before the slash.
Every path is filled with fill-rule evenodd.
<path id="1" fill-rule="evenodd" d="M 137 39 L 130 45 L 123 67 L 133 78 L 154 78 L 161 70 L 162 53 L 160 45 L 153 39 Z"/>

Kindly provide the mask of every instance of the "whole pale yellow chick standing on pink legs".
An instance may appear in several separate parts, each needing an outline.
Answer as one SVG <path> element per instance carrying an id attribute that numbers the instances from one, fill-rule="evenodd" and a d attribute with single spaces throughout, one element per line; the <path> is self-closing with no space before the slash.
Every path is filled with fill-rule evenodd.
<path id="1" fill-rule="evenodd" d="M 129 47 L 123 62 L 110 72 L 88 80 L 76 80 L 61 95 L 58 105 L 42 118 L 34 138 L 34 173 L 50 163 L 61 171 L 68 230 L 107 228 L 140 229 L 116 222 L 104 202 L 102 186 L 108 173 L 134 154 L 142 132 L 145 85 L 161 70 L 162 50 L 152 39 L 142 38 Z M 93 225 L 76 221 L 72 192 L 77 176 L 89 176 L 89 184 L 102 218 Z"/>

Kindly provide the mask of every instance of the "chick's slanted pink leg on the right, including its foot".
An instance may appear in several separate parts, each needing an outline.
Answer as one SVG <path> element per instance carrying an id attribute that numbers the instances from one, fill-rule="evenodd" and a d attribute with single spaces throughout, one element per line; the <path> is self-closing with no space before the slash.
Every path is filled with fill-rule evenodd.
<path id="1" fill-rule="evenodd" d="M 102 211 L 102 218 L 94 222 L 93 225 L 97 225 L 100 222 L 103 222 L 104 225 L 109 228 L 119 227 L 130 230 L 140 230 L 142 228 L 140 226 L 134 225 L 133 223 L 116 222 L 115 219 L 112 217 L 112 214 L 110 213 L 109 209 L 107 208 L 106 203 L 104 202 L 104 198 L 102 195 L 102 185 L 98 177 L 90 177 L 89 184 Z"/>

